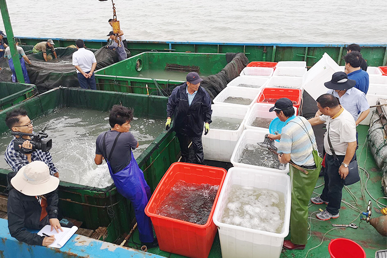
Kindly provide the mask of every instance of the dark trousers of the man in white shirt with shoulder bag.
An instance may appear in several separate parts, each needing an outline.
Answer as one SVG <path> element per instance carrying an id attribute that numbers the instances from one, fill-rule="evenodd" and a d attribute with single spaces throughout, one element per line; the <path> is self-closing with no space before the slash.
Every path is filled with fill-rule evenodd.
<path id="1" fill-rule="evenodd" d="M 344 186 L 342 184 L 340 174 L 338 173 L 338 169 L 345 156 L 338 155 L 337 158 L 338 162 L 334 160 L 332 155 L 327 154 L 325 156 L 325 186 L 320 196 L 322 200 L 329 202 L 327 210 L 333 215 L 336 215 L 340 209 L 342 187 Z"/>

